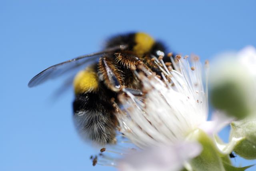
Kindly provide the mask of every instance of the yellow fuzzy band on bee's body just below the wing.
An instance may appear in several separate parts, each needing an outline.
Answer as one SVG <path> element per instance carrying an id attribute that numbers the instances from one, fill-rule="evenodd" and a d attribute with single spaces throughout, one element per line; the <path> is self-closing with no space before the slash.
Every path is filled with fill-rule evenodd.
<path id="1" fill-rule="evenodd" d="M 74 91 L 76 94 L 95 92 L 98 90 L 98 75 L 92 68 L 78 72 L 74 78 Z"/>

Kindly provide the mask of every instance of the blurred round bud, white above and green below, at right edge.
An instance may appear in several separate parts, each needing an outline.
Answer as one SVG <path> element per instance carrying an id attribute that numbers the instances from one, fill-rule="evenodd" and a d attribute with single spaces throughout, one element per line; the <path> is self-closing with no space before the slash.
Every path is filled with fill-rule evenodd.
<path id="1" fill-rule="evenodd" d="M 212 105 L 238 119 L 255 110 L 256 79 L 248 60 L 251 63 L 253 59 L 256 61 L 256 52 L 251 48 L 249 51 L 244 49 L 239 53 L 222 54 L 213 64 L 210 76 Z"/>

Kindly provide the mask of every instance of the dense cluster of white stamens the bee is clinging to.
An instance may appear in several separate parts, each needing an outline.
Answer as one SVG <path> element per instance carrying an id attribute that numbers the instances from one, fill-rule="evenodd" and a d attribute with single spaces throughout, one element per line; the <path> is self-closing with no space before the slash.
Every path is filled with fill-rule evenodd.
<path id="1" fill-rule="evenodd" d="M 120 96 L 124 109 L 116 115 L 120 132 L 141 149 L 183 141 L 208 117 L 207 90 L 198 58 L 192 61 L 192 67 L 187 58 L 179 58 L 177 63 L 172 60 L 176 70 L 171 71 L 163 62 L 155 61 L 165 73 L 165 82 L 150 73 L 148 78 L 138 74 L 146 97 L 140 99 L 124 90 L 128 97 Z"/>

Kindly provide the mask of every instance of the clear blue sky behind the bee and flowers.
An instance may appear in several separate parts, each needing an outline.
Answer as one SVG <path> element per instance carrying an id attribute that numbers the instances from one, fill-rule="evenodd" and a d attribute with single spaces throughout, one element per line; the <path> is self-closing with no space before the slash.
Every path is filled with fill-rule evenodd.
<path id="1" fill-rule="evenodd" d="M 96 151 L 80 140 L 72 123 L 72 89 L 52 101 L 61 80 L 32 89 L 28 81 L 129 31 L 148 32 L 170 50 L 198 54 L 202 61 L 256 46 L 255 6 L 254 0 L 0 0 L 0 170 L 115 170 L 92 167 L 89 157 Z"/>

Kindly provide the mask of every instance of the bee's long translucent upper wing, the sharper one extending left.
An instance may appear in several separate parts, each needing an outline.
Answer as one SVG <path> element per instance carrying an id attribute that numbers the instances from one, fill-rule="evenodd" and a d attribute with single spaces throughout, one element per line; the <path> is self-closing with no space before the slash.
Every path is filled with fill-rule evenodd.
<path id="1" fill-rule="evenodd" d="M 63 74 L 71 72 L 72 70 L 77 70 L 79 67 L 84 67 L 85 64 L 92 64 L 96 62 L 98 58 L 104 53 L 111 53 L 115 50 L 122 50 L 124 48 L 126 48 L 126 45 L 116 46 L 113 48 L 108 48 L 102 52 L 79 56 L 77 58 L 50 66 L 49 68 L 34 76 L 28 83 L 28 87 L 34 87 L 46 82 L 47 80 L 58 78 Z"/>

